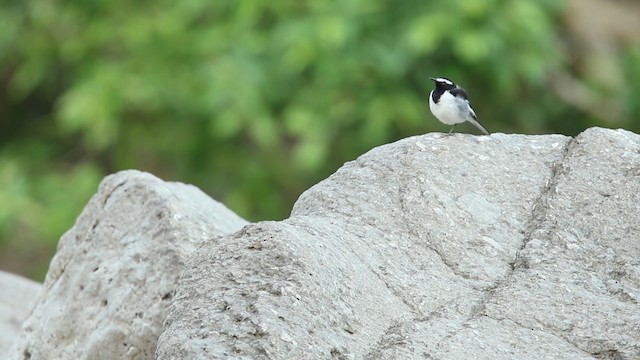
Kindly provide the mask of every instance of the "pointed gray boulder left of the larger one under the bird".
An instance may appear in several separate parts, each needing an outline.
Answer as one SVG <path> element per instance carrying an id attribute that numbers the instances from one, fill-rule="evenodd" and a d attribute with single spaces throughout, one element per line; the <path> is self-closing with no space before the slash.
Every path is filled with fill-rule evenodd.
<path id="1" fill-rule="evenodd" d="M 60 240 L 9 359 L 150 359 L 186 260 L 242 220 L 197 188 L 107 177 Z"/>

